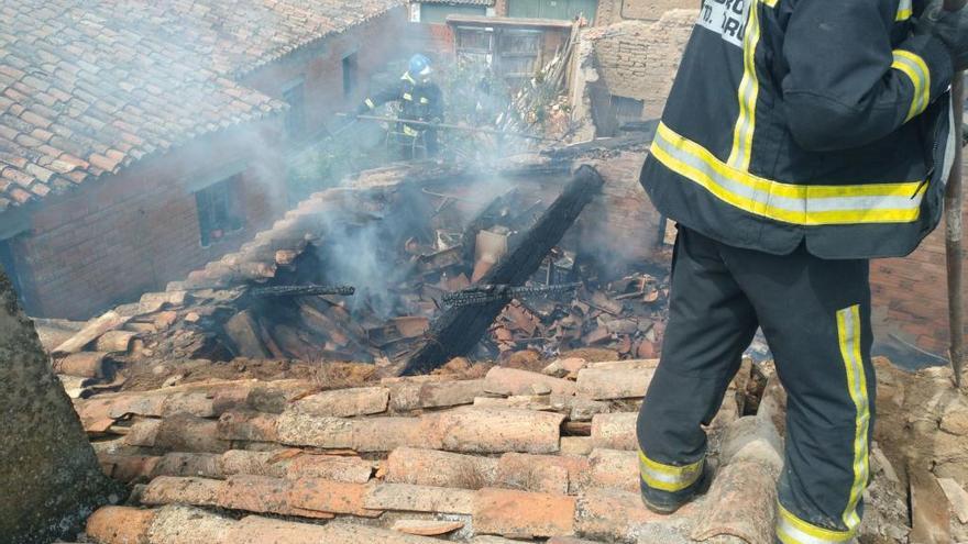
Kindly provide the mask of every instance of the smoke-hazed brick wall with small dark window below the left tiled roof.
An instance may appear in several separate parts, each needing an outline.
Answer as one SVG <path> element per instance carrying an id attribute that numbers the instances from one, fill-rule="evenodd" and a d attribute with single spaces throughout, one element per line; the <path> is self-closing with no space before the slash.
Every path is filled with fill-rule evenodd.
<path id="1" fill-rule="evenodd" d="M 80 320 L 136 300 L 234 251 L 283 213 L 285 166 L 272 145 L 280 121 L 244 126 L 87 181 L 31 210 L 29 230 L 13 242 L 30 313 Z M 202 247 L 197 184 L 241 162 L 248 165 L 240 180 L 244 227 Z"/>

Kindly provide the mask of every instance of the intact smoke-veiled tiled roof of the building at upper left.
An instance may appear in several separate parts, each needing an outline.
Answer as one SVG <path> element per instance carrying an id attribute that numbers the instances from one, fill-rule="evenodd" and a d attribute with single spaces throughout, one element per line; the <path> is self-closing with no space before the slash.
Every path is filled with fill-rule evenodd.
<path id="1" fill-rule="evenodd" d="M 233 79 L 400 4 L 3 2 L 0 153 L 46 167 L 50 162 L 36 156 L 46 144 L 44 155 L 58 158 L 52 148 L 69 153 L 82 171 L 61 179 L 64 168 L 18 165 L 31 178 L 20 185 L 45 187 L 0 197 L 25 203 L 202 134 L 275 114 L 283 102 Z"/>

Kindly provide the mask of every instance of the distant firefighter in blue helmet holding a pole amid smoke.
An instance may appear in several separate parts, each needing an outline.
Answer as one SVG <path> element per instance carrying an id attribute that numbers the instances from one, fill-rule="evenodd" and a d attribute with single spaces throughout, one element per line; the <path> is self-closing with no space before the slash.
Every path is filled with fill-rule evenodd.
<path id="1" fill-rule="evenodd" d="M 369 113 L 386 102 L 400 102 L 400 123 L 392 131 L 391 137 L 403 148 L 403 158 L 414 158 L 415 151 L 424 147 L 428 157 L 437 155 L 437 130 L 424 125 L 408 124 L 406 121 L 440 123 L 443 121 L 443 97 L 440 87 L 432 80 L 430 59 L 414 55 L 407 71 L 400 79 L 367 98 L 356 108 L 358 114 Z"/>

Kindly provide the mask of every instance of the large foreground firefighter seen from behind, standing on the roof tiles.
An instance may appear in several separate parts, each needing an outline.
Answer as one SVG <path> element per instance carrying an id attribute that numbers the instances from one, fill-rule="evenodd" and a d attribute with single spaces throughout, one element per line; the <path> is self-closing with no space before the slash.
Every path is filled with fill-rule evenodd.
<path id="1" fill-rule="evenodd" d="M 870 478 L 868 259 L 938 223 L 968 11 L 920 0 L 705 0 L 641 184 L 679 224 L 642 500 L 703 487 L 708 423 L 761 326 L 789 393 L 777 539 L 851 540 Z M 957 104 L 961 107 L 961 104 Z"/>

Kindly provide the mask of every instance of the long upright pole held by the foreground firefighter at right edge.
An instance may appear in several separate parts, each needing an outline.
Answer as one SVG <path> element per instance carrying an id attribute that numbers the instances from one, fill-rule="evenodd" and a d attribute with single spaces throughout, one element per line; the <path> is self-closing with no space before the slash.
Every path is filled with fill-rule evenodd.
<path id="1" fill-rule="evenodd" d="M 957 11 L 968 0 L 945 0 L 945 10 Z M 955 370 L 955 386 L 961 387 L 965 368 L 965 299 L 961 284 L 964 249 L 961 247 L 961 125 L 965 112 L 965 73 L 955 74 L 952 84 L 952 101 L 955 113 L 955 165 L 945 190 L 945 257 L 948 271 L 948 332 L 952 337 L 949 356 Z"/>

